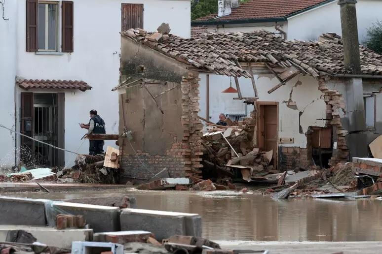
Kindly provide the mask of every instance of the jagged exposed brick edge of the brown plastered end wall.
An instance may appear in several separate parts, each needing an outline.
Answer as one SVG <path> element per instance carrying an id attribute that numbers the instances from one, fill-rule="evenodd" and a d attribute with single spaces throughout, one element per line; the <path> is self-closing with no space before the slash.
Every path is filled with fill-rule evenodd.
<path id="1" fill-rule="evenodd" d="M 201 156 L 201 129 L 203 127 L 197 114 L 199 112 L 199 73 L 189 71 L 187 77 L 183 77 L 181 82 L 182 89 L 182 126 L 184 127 L 182 144 L 189 145 L 190 148 L 190 167 L 186 166 L 186 176 L 201 177 L 200 170 L 203 165 Z"/>

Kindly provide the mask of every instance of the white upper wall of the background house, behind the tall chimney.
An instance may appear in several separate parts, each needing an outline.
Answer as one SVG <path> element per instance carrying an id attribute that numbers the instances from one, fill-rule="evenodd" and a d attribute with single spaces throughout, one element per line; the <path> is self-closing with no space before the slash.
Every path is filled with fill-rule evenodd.
<path id="1" fill-rule="evenodd" d="M 382 0 L 358 0 L 358 38 L 362 43 L 367 38 L 367 29 L 373 22 L 382 20 Z M 337 1 L 293 16 L 288 19 L 289 40 L 317 40 L 324 32 L 341 32 L 340 5 Z"/>

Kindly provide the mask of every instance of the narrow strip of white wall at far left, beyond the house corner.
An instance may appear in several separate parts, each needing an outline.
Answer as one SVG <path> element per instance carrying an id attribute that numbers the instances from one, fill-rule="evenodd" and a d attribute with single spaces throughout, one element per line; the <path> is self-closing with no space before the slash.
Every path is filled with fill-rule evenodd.
<path id="1" fill-rule="evenodd" d="M 17 31 L 17 3 L 14 0 L 5 1 L 4 17 L 9 20 L 2 19 L 0 5 L 0 124 L 14 128 Z M 0 128 L 0 174 L 2 168 L 14 165 L 14 138 L 10 131 Z"/>

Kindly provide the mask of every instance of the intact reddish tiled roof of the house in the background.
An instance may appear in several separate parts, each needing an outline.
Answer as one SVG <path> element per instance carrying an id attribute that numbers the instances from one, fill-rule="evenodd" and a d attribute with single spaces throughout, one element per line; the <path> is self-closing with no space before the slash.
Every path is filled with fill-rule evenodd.
<path id="1" fill-rule="evenodd" d="M 215 21 L 282 18 L 308 7 L 333 0 L 249 0 L 232 9 L 231 14 L 214 19 Z M 217 13 L 198 18 L 192 22 L 208 21 Z"/>

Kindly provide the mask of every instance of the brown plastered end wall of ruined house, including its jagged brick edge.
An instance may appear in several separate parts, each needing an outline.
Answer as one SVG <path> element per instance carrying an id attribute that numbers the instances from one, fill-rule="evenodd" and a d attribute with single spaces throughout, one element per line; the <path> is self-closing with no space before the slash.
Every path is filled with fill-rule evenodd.
<path id="1" fill-rule="evenodd" d="M 141 182 L 164 167 L 170 177 L 198 176 L 198 77 L 187 66 L 122 37 L 120 182 Z M 196 112 L 196 113 L 195 113 Z"/>

